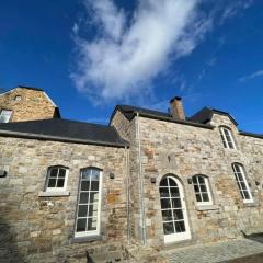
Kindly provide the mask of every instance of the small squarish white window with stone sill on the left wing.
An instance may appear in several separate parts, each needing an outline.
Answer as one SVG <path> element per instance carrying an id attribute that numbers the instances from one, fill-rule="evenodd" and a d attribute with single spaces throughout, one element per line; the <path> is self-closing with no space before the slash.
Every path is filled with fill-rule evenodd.
<path id="1" fill-rule="evenodd" d="M 64 167 L 53 167 L 47 172 L 46 191 L 65 191 L 67 187 L 68 169 Z"/>

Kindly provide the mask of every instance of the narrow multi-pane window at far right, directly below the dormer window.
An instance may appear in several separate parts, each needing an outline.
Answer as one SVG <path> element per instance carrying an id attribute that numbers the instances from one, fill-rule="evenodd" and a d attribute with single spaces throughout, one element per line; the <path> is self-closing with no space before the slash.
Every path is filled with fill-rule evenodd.
<path id="1" fill-rule="evenodd" d="M 244 203 L 252 203 L 253 198 L 249 188 L 249 184 L 244 176 L 244 169 L 239 163 L 232 164 L 233 174 L 239 186 L 240 194 Z"/>

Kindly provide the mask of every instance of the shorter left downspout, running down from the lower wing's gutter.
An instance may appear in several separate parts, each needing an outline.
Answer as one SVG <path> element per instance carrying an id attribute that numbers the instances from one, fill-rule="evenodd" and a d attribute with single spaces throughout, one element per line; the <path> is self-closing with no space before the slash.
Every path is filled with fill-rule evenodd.
<path id="1" fill-rule="evenodd" d="M 127 242 L 128 244 L 130 244 L 129 151 L 127 146 L 125 146 L 125 173 L 126 173 Z"/>

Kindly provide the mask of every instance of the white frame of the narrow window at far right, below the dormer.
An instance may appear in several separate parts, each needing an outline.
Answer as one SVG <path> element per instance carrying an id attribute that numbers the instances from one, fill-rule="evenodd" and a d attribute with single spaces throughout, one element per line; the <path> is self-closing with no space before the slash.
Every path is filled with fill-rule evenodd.
<path id="1" fill-rule="evenodd" d="M 239 168 L 240 172 L 238 171 L 237 168 Z M 232 170 L 233 170 L 236 182 L 238 184 L 239 193 L 240 193 L 240 195 L 241 195 L 241 197 L 243 199 L 243 203 L 253 203 L 253 197 L 252 197 L 252 194 L 251 194 L 251 191 L 250 191 L 247 178 L 245 178 L 243 165 L 240 164 L 240 163 L 232 163 Z M 242 181 L 240 181 L 239 175 L 242 176 Z M 245 188 L 242 187 L 242 184 L 241 184 L 242 182 L 244 183 Z M 245 198 L 245 196 L 243 194 L 244 191 L 248 192 L 249 198 Z"/>

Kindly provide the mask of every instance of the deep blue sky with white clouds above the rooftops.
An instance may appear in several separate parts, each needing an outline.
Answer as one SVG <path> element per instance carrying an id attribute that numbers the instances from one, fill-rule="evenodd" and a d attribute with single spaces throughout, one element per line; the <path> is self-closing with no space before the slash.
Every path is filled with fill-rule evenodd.
<path id="1" fill-rule="evenodd" d="M 42 88 L 62 117 L 103 124 L 116 104 L 180 95 L 188 116 L 211 106 L 262 134 L 263 2 L 160 2 L 2 1 L 0 88 Z"/>

